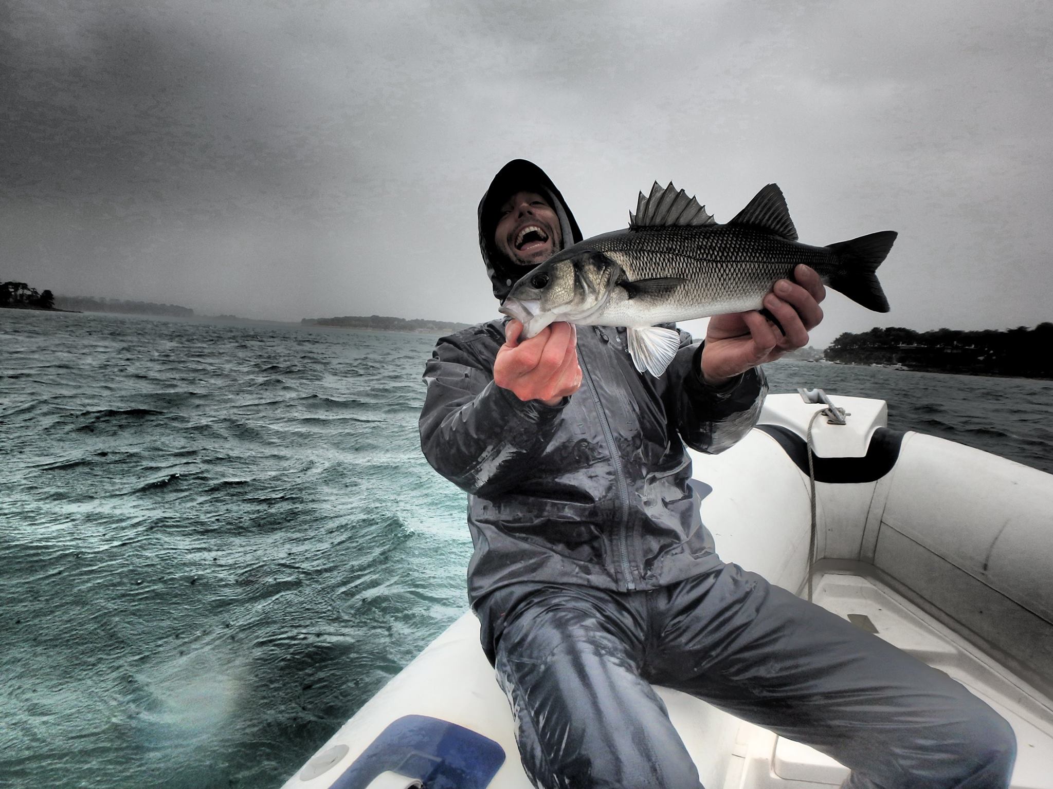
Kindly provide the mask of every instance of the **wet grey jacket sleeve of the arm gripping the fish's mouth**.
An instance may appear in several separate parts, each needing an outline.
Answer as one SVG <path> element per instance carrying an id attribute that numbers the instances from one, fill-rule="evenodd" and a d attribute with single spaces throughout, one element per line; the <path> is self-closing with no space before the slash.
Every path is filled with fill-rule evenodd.
<path id="1" fill-rule="evenodd" d="M 559 423 L 563 402 L 523 402 L 494 383 L 499 343 L 485 331 L 439 340 L 424 368 L 420 447 L 459 488 L 492 498 L 528 476 Z"/>

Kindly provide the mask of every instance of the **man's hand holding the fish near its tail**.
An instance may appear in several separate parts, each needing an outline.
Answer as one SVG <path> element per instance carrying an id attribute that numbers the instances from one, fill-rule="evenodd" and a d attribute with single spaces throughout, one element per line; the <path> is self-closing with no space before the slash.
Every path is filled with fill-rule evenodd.
<path id="1" fill-rule="evenodd" d="M 806 265 L 794 268 L 794 279 L 779 280 L 764 296 L 764 307 L 782 325 L 773 326 L 760 312 L 714 316 L 702 348 L 702 378 L 719 386 L 740 372 L 808 345 L 808 332 L 819 325 L 827 298 L 819 275 Z"/>

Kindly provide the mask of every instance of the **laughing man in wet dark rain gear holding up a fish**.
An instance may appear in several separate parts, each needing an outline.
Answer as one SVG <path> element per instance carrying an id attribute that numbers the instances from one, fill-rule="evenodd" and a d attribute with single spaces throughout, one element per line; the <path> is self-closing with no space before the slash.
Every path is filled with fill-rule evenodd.
<path id="1" fill-rule="evenodd" d="M 494 295 L 581 239 L 536 165 L 479 204 Z M 852 768 L 846 786 L 1005 787 L 1008 724 L 946 674 L 726 565 L 683 443 L 718 452 L 755 424 L 758 367 L 822 318 L 814 271 L 758 312 L 713 318 L 659 378 L 623 330 L 501 321 L 443 338 L 420 419 L 429 462 L 468 490 L 469 596 L 538 787 L 700 786 L 652 684 L 678 688 Z"/>

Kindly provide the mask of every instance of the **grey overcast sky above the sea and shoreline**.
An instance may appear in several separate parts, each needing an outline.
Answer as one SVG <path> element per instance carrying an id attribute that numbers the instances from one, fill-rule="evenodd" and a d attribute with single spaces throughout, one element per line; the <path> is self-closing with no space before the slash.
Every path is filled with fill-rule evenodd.
<path id="1" fill-rule="evenodd" d="M 496 316 L 476 206 L 587 236 L 673 181 L 801 241 L 895 229 L 875 325 L 1053 320 L 1053 4 L 0 0 L 0 280 L 299 320 Z"/>

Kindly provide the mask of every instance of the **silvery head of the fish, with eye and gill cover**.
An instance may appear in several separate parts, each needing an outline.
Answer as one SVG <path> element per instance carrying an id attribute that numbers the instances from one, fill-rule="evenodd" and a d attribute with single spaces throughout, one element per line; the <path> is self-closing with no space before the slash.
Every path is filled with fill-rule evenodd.
<path id="1" fill-rule="evenodd" d="M 524 338 L 553 321 L 585 323 L 607 303 L 620 275 L 610 258 L 593 249 L 568 249 L 524 275 L 500 311 L 521 321 Z"/>

